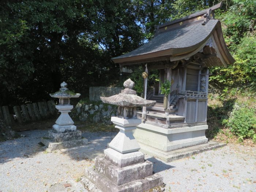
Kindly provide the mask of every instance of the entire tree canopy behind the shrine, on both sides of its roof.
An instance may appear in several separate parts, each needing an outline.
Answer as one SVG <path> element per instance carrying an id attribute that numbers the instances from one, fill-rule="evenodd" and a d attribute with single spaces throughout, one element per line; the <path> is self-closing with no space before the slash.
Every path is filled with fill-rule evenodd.
<path id="1" fill-rule="evenodd" d="M 218 0 L 217 0 L 218 1 Z M 154 25 L 211 7 L 214 0 L 10 0 L 0 6 L 0 105 L 49 99 L 65 80 L 75 91 L 117 83 L 110 59 L 151 39 Z M 254 89 L 255 0 L 226 0 L 215 14 L 236 59 L 212 68 L 212 89 Z"/>

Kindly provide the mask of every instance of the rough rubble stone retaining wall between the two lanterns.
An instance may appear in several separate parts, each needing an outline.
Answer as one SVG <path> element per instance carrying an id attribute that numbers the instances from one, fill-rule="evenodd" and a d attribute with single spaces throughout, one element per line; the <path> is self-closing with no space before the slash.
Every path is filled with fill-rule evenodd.
<path id="1" fill-rule="evenodd" d="M 80 121 L 112 124 L 110 119 L 116 116 L 117 106 L 102 102 L 97 104 L 78 103 L 71 112 L 71 117 Z"/>

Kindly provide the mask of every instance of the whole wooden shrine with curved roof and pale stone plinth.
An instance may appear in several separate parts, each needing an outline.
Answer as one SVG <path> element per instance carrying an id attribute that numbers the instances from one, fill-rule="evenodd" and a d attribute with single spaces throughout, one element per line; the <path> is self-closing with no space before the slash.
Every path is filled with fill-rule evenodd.
<path id="1" fill-rule="evenodd" d="M 157 103 L 146 108 L 146 117 L 134 133 L 142 151 L 168 161 L 168 154 L 175 150 L 208 142 L 209 68 L 234 63 L 221 22 L 214 19 L 214 10 L 220 7 L 221 3 L 155 26 L 151 41 L 112 59 L 121 68 L 147 64 L 148 71 L 159 70 L 159 85 L 146 93 L 147 99 Z M 172 83 L 167 108 L 159 89 L 165 79 Z M 137 116 L 142 118 L 142 112 Z"/>

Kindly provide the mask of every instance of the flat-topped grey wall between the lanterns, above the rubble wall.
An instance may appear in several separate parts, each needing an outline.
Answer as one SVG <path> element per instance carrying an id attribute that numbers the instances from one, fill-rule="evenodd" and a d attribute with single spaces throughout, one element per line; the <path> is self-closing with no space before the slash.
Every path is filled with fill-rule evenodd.
<path id="1" fill-rule="evenodd" d="M 90 87 L 89 99 L 90 101 L 100 101 L 99 97 L 110 97 L 121 92 L 122 87 Z"/>

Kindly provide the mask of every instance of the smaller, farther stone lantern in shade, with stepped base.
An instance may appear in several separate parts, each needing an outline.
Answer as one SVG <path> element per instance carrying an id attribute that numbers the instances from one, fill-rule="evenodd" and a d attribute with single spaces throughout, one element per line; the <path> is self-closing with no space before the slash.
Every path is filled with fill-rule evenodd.
<path id="1" fill-rule="evenodd" d="M 55 121 L 56 124 L 52 126 L 53 129 L 49 131 L 49 138 L 41 139 L 41 142 L 50 150 L 77 147 L 88 143 L 87 139 L 82 139 L 82 132 L 76 130 L 74 121 L 68 114 L 73 109 L 73 105 L 70 105 L 70 98 L 77 98 L 80 94 L 69 91 L 65 82 L 62 82 L 60 86 L 60 90 L 50 96 L 59 98 L 59 105 L 55 107 L 61 114 Z"/>

